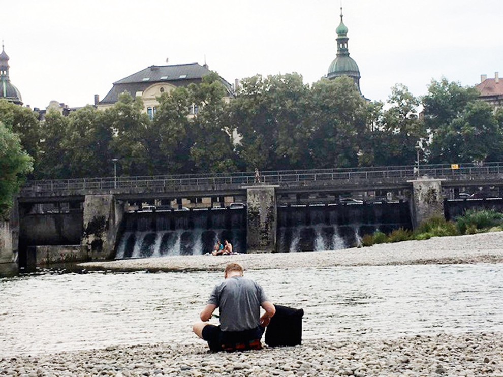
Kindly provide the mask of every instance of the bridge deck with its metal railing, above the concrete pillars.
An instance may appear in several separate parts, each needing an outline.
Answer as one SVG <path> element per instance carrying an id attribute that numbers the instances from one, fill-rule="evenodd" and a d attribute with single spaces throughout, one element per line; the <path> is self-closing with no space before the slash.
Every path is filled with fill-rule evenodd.
<path id="1" fill-rule="evenodd" d="M 410 181 L 420 177 L 442 179 L 444 187 L 500 187 L 503 163 L 263 171 L 260 184 L 276 186 L 278 194 L 393 191 L 410 188 Z M 245 187 L 256 183 L 254 172 L 28 181 L 19 200 L 65 200 L 69 196 L 93 194 L 127 199 L 153 198 L 156 194 L 218 197 L 239 195 Z"/>

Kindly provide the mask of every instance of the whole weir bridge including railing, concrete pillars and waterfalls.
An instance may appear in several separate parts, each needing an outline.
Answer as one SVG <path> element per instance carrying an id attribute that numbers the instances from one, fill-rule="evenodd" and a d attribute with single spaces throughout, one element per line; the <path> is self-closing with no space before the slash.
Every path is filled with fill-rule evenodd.
<path id="1" fill-rule="evenodd" d="M 248 253 L 337 249 L 433 215 L 503 207 L 502 194 L 503 163 L 28 181 L 0 259 L 195 254 L 222 238 Z"/>

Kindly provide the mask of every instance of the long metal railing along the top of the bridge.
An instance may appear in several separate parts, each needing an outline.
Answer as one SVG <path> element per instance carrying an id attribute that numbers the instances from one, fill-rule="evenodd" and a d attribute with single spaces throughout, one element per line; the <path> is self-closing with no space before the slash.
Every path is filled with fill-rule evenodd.
<path id="1" fill-rule="evenodd" d="M 260 183 L 295 185 L 305 182 L 337 181 L 356 182 L 368 180 L 405 181 L 418 176 L 429 176 L 446 179 L 470 179 L 483 175 L 503 174 L 503 162 L 477 164 L 459 164 L 455 169 L 452 165 L 422 165 L 419 174 L 416 165 L 381 166 L 366 168 L 337 168 L 312 170 L 281 170 L 260 172 Z M 244 186 L 255 184 L 254 172 L 215 173 L 215 174 L 183 174 L 134 177 L 104 177 L 78 179 L 52 179 L 27 181 L 21 190 L 22 195 L 60 191 L 111 191 L 145 189 L 175 189 L 177 187 L 213 187 Z"/>

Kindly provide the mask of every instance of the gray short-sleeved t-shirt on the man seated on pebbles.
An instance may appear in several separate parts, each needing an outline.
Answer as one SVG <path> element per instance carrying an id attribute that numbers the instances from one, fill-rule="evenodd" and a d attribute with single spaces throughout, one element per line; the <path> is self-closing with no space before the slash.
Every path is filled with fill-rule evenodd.
<path id="1" fill-rule="evenodd" d="M 208 304 L 220 308 L 222 331 L 243 331 L 260 325 L 260 304 L 269 301 L 262 287 L 242 276 L 233 276 L 217 284 Z"/>

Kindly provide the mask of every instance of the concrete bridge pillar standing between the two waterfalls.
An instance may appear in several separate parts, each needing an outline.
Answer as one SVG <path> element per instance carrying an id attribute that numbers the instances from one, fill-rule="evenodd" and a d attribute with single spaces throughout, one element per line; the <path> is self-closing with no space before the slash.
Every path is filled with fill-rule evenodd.
<path id="1" fill-rule="evenodd" d="M 276 250 L 276 187 L 245 187 L 248 253 L 272 253 Z"/>

